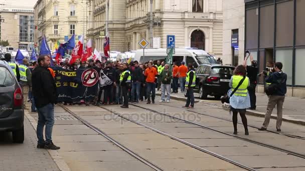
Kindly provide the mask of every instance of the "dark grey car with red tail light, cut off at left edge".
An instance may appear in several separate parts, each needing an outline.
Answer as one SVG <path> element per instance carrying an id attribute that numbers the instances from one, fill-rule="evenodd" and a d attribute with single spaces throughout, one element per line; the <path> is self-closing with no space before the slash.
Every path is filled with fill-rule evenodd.
<path id="1" fill-rule="evenodd" d="M 0 131 L 12 131 L 13 141 L 24 141 L 23 92 L 8 64 L 0 61 Z"/>

